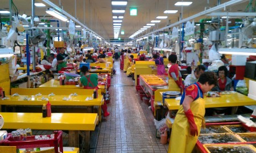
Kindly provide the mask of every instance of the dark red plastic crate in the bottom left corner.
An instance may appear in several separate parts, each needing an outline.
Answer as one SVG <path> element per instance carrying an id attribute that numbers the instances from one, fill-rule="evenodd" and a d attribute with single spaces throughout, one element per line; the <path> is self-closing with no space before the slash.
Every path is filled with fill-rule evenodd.
<path id="1" fill-rule="evenodd" d="M 47 135 L 51 137 L 51 135 Z M 11 134 L 7 136 L 2 143 L 3 146 L 16 146 L 17 148 L 40 148 L 40 147 L 54 147 L 55 152 L 58 152 L 58 146 L 60 147 L 60 152 L 63 152 L 63 142 L 62 142 L 62 131 L 54 131 L 54 139 L 48 140 L 35 140 L 35 135 L 28 136 L 25 141 L 13 141 L 11 139 Z"/>

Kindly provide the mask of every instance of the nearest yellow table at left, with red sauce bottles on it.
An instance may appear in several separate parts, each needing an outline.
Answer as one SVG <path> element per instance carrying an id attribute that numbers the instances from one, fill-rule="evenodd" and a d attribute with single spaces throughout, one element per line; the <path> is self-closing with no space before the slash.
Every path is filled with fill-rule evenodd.
<path id="1" fill-rule="evenodd" d="M 79 147 L 79 131 L 85 131 L 85 149 L 89 149 L 90 131 L 96 127 L 96 113 L 1 113 L 5 124 L 3 129 L 69 130 L 69 146 Z"/>

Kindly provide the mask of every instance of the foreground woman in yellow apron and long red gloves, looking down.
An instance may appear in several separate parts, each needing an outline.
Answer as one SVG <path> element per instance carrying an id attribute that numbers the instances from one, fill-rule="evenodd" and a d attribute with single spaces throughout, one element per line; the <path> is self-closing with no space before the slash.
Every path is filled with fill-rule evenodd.
<path id="1" fill-rule="evenodd" d="M 192 152 L 201 126 L 204 126 L 205 101 L 203 94 L 217 84 L 214 72 L 205 72 L 198 82 L 188 86 L 181 97 L 180 107 L 172 125 L 168 153 Z"/>

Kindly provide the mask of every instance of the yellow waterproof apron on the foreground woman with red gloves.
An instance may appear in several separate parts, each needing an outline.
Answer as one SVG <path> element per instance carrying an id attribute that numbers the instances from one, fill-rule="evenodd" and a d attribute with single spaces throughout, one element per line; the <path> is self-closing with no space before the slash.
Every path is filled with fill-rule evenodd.
<path id="1" fill-rule="evenodd" d="M 200 91 L 199 98 L 191 103 L 190 109 L 194 115 L 194 120 L 199 135 L 201 126 L 203 125 L 204 127 L 205 114 L 205 101 L 200 97 Z M 188 119 L 184 114 L 183 105 L 180 105 L 174 120 L 174 124 L 172 125 L 172 133 L 168 153 L 191 153 L 196 145 L 197 138 L 198 136 L 193 137 L 190 135 Z"/>

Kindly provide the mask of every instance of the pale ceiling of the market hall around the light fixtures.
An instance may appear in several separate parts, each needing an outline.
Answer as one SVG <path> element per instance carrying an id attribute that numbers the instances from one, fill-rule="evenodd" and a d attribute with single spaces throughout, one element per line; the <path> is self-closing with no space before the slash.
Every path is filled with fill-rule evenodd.
<path id="1" fill-rule="evenodd" d="M 18 8 L 20 15 L 31 15 L 30 0 L 13 0 L 13 2 Z M 35 0 L 35 2 L 41 1 Z M 57 6 L 59 6 L 59 2 L 61 2 L 63 9 L 67 13 L 75 16 L 75 0 L 52 0 L 51 2 L 55 3 L 55 5 Z M 146 24 L 150 23 L 151 20 L 156 19 L 156 16 L 168 16 L 168 18 L 162 19 L 160 23 L 144 31 L 144 33 L 142 33 L 141 35 L 145 34 L 146 32 L 165 27 L 170 23 L 177 22 L 181 14 L 181 6 L 175 6 L 174 4 L 176 2 L 178 2 L 178 0 L 128 0 L 121 26 L 121 30 L 125 31 L 125 35 L 121 35 L 120 32 L 119 38 L 127 40 L 129 36 L 134 34 L 134 32 L 138 31 L 143 26 L 146 26 Z M 191 2 L 193 2 L 192 5 L 183 7 L 183 19 L 203 11 L 205 7 L 216 6 L 218 1 L 191 0 Z M 224 3 L 228 2 L 228 0 L 220 0 L 220 2 Z M 226 9 L 229 9 L 232 12 L 244 11 L 248 3 L 249 1 Z M 51 6 L 35 7 L 35 15 L 42 16 L 41 18 L 43 18 L 44 16 L 44 18 L 46 19 L 54 19 L 52 16 L 46 14 L 46 9 L 48 7 Z M 137 16 L 130 16 L 130 7 L 138 8 Z M 9 9 L 9 0 L 1 0 L 0 9 Z M 164 14 L 163 12 L 167 9 L 178 10 L 178 12 L 176 14 Z M 81 23 L 85 23 L 88 28 L 92 29 L 104 39 L 108 40 L 114 38 L 111 0 L 76 0 L 76 16 Z M 206 18 L 206 16 L 201 16 L 201 18 Z M 201 18 L 195 19 L 195 22 L 198 22 Z M 208 16 L 208 18 L 210 18 L 210 16 Z M 61 23 L 61 27 L 66 26 L 66 23 Z"/>

